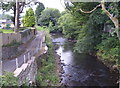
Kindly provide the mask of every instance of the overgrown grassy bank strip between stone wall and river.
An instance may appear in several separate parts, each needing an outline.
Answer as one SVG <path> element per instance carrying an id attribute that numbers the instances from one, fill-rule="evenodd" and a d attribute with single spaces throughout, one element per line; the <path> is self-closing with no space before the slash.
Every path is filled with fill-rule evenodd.
<path id="1" fill-rule="evenodd" d="M 59 76 L 56 74 L 54 49 L 48 32 L 46 33 L 46 44 L 48 52 L 46 57 L 41 58 L 41 67 L 39 67 L 36 77 L 37 86 L 58 86 Z"/>

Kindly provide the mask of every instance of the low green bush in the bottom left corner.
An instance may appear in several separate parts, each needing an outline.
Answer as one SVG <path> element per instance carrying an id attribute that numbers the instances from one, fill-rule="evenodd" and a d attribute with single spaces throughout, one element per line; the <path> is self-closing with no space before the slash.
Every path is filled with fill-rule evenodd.
<path id="1" fill-rule="evenodd" d="M 0 86 L 18 86 L 18 79 L 14 77 L 13 73 L 6 72 L 5 75 L 0 76 Z"/>

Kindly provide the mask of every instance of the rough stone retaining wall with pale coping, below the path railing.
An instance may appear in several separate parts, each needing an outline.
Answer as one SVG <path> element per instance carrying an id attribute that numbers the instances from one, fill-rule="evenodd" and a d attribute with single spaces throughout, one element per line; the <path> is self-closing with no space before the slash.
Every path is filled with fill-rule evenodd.
<path id="1" fill-rule="evenodd" d="M 37 74 L 37 63 L 35 57 L 31 57 L 31 59 L 24 63 L 20 68 L 17 68 L 14 71 L 14 76 L 18 77 L 19 85 L 25 83 L 35 83 L 35 77 Z"/>

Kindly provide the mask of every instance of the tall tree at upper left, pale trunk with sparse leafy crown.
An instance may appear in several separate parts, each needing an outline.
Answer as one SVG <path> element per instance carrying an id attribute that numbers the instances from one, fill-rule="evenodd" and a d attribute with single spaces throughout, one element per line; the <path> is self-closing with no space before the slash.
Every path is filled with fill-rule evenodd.
<path id="1" fill-rule="evenodd" d="M 16 2 L 2 2 L 2 9 L 4 11 L 9 11 L 9 10 L 13 10 L 14 12 L 14 31 L 18 32 L 19 29 L 19 16 L 20 13 L 22 13 L 24 7 L 26 6 L 30 6 L 31 2 L 33 2 L 33 0 L 28 0 L 27 2 L 18 2 L 18 0 L 16 0 Z M 35 2 L 34 4 L 37 4 L 38 2 Z M 17 17 L 16 17 L 17 16 Z"/>

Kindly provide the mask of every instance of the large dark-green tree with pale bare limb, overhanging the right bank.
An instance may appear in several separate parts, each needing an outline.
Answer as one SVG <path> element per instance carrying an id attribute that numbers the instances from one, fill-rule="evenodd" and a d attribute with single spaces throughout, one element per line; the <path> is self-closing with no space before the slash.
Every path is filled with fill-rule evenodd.
<path id="1" fill-rule="evenodd" d="M 72 6 L 67 4 L 67 9 L 77 17 L 79 14 L 88 14 L 86 23 L 79 32 L 76 47 L 79 53 L 89 53 L 101 57 L 100 59 L 108 63 L 113 68 L 120 69 L 120 38 L 119 38 L 119 21 L 120 21 L 120 2 L 102 2 L 99 3 L 76 3 Z M 102 7 L 102 9 L 101 9 Z M 78 19 L 81 17 L 77 17 Z M 83 19 L 84 20 L 84 19 Z M 105 31 L 106 24 L 114 27 L 113 32 Z M 95 53 L 94 53 L 95 52 Z M 97 54 L 96 54 L 97 53 Z"/>

